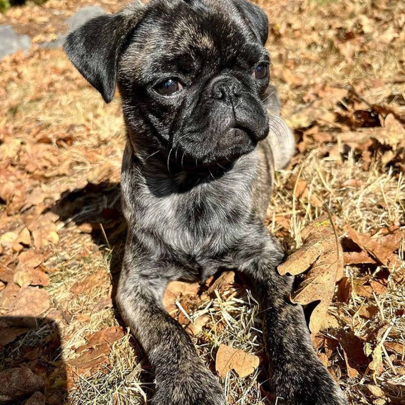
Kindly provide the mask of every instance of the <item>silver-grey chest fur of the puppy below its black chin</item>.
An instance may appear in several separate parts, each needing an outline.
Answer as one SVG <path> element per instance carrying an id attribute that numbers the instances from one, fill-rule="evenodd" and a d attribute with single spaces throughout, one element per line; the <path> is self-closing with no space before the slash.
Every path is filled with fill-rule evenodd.
<path id="1" fill-rule="evenodd" d="M 224 248 L 230 249 L 250 232 L 259 166 L 259 153 L 254 151 L 239 158 L 221 177 L 211 174 L 197 179 L 184 191 L 185 172 L 171 176 L 160 171 L 159 165 L 149 162 L 145 167 L 136 161 L 128 143 L 122 163 L 122 194 L 124 215 L 135 227 L 131 232 L 143 235 L 143 243 L 150 242 L 157 260 L 168 252 L 187 257 L 190 268 L 184 278 L 207 278 L 214 262 L 218 266 L 216 258 L 224 254 Z M 271 181 L 266 186 L 269 193 Z"/>

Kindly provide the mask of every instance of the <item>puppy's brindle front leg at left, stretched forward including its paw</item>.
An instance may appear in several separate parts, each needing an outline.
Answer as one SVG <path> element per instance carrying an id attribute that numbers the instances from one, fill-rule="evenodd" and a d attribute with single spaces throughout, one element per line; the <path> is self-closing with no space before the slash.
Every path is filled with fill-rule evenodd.
<path id="1" fill-rule="evenodd" d="M 173 270 L 172 270 L 173 271 Z M 169 269 L 127 243 L 117 304 L 156 375 L 153 405 L 224 405 L 222 387 L 198 358 L 190 337 L 164 309 Z"/>

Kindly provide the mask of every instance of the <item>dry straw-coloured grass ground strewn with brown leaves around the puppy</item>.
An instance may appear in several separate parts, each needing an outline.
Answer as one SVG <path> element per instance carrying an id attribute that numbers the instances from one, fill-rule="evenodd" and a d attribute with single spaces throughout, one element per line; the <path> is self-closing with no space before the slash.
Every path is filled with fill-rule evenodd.
<path id="1" fill-rule="evenodd" d="M 0 24 L 41 43 L 85 4 L 123 2 L 28 2 Z M 320 296 L 307 300 L 309 315 L 320 302 L 326 311 L 313 343 L 351 405 L 405 404 L 405 2 L 259 4 L 297 144 L 276 176 L 269 232 L 289 253 L 305 248 L 303 228 L 326 203 L 344 267 L 332 284 L 321 272 Z M 119 95 L 105 104 L 61 50 L 0 61 L 0 402 L 36 392 L 47 404 L 145 404 L 153 395 L 147 359 L 114 304 L 124 135 Z M 213 373 L 221 344 L 258 357 L 247 376 L 220 377 L 229 404 L 283 403 L 269 392 L 260 308 L 240 275 L 171 285 L 165 305 Z"/>

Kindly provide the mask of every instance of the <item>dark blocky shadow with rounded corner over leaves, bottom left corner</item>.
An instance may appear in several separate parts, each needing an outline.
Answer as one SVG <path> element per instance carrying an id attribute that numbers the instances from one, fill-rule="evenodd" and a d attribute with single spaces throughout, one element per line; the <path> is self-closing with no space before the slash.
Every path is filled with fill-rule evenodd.
<path id="1" fill-rule="evenodd" d="M 64 404 L 67 385 L 56 322 L 0 316 L 0 403 Z"/>

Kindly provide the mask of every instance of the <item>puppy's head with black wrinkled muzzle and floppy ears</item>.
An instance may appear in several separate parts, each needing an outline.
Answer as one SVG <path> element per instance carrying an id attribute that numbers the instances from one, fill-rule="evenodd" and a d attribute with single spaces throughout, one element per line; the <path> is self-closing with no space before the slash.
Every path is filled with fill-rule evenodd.
<path id="1" fill-rule="evenodd" d="M 267 32 L 245 0 L 151 0 L 87 21 L 64 49 L 106 102 L 118 85 L 134 147 L 211 165 L 269 132 Z"/>

